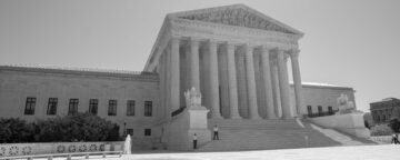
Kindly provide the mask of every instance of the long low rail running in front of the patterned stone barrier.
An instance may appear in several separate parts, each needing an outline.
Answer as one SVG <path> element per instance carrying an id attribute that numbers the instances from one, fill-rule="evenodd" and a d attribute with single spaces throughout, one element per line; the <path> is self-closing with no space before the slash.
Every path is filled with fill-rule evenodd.
<path id="1" fill-rule="evenodd" d="M 31 156 L 16 156 L 16 157 L 0 157 L 0 160 L 13 160 L 13 159 L 27 159 L 32 160 L 33 158 L 48 158 L 52 160 L 53 157 L 67 157 L 67 160 L 71 160 L 72 156 L 84 156 L 84 159 L 89 159 L 89 156 L 102 154 L 106 158 L 107 153 L 118 153 L 122 157 L 122 151 L 99 151 L 99 152 L 70 152 L 70 153 L 53 153 L 53 154 L 31 154 Z"/>

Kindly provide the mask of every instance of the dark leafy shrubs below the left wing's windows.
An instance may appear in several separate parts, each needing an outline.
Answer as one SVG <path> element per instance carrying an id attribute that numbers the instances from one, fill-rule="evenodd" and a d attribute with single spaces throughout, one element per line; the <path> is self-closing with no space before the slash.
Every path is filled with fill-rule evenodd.
<path id="1" fill-rule="evenodd" d="M 27 123 L 0 119 L 0 143 L 120 140 L 119 126 L 90 113 L 56 117 Z"/>

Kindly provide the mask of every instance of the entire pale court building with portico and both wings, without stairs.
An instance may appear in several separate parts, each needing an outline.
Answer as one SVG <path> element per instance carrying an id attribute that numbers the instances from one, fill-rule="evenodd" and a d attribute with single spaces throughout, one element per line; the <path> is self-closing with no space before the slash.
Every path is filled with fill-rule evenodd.
<path id="1" fill-rule="evenodd" d="M 147 148 L 166 137 L 192 87 L 209 120 L 290 120 L 336 110 L 341 93 L 354 101 L 352 88 L 301 81 L 301 37 L 243 4 L 169 13 L 142 72 L 1 66 L 0 117 L 89 111 Z"/>

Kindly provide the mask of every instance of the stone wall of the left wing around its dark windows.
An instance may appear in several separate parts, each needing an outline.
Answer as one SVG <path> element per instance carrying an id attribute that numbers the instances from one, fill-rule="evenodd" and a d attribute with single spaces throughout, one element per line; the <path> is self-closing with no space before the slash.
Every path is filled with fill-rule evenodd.
<path id="1" fill-rule="evenodd" d="M 98 116 L 143 138 L 161 119 L 157 74 L 122 74 L 90 71 L 66 71 L 34 68 L 0 68 L 0 118 L 28 121 L 67 116 L 69 100 L 79 99 L 78 111 L 89 110 L 89 99 L 98 99 Z M 36 98 L 34 114 L 24 114 L 28 97 Z M 57 114 L 47 114 L 49 98 L 58 98 Z M 109 100 L 117 100 L 117 116 L 108 116 Z M 134 116 L 127 116 L 127 100 L 134 100 Z M 152 101 L 152 116 L 144 117 L 144 101 Z M 160 131 L 153 130 L 151 137 Z"/>

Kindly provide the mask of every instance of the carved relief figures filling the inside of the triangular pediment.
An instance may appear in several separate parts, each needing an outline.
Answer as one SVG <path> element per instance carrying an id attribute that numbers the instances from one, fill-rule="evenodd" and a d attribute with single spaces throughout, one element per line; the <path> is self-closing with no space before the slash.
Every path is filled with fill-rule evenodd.
<path id="1" fill-rule="evenodd" d="M 233 8 L 233 9 L 227 8 L 223 10 L 214 10 L 209 12 L 181 16 L 179 18 L 213 22 L 213 23 L 222 23 L 229 26 L 262 29 L 262 30 L 284 32 L 284 33 L 293 33 L 288 29 L 280 27 L 273 22 L 270 22 L 264 18 L 261 18 L 260 16 L 247 11 L 246 9 L 242 8 Z"/>

